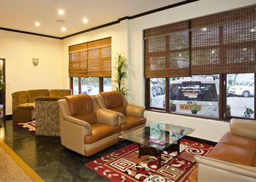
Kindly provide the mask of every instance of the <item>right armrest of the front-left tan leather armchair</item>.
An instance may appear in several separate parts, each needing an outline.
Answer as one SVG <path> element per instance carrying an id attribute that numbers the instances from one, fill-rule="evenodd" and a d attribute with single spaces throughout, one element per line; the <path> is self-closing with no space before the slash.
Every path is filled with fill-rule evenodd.
<path id="1" fill-rule="evenodd" d="M 107 108 L 99 108 L 96 111 L 97 124 L 118 125 L 118 113 Z"/>

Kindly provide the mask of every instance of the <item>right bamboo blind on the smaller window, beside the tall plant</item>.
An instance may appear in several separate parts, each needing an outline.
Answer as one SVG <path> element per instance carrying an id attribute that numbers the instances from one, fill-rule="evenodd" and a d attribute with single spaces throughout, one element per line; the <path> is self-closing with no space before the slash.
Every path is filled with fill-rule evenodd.
<path id="1" fill-rule="evenodd" d="M 88 43 L 88 76 L 111 77 L 111 38 Z"/>

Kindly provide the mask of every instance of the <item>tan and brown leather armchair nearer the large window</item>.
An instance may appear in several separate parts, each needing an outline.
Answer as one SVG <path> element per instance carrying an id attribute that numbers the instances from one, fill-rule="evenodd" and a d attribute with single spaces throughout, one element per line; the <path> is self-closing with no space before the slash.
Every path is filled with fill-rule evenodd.
<path id="1" fill-rule="evenodd" d="M 95 96 L 100 108 L 107 108 L 118 113 L 120 135 L 138 130 L 146 124 L 145 108 L 127 103 L 120 92 L 101 92 Z"/>

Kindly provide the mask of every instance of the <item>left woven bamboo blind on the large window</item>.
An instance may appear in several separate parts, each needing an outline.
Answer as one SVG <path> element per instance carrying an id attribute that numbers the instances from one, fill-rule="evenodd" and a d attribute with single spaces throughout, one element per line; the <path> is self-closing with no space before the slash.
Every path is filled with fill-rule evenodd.
<path id="1" fill-rule="evenodd" d="M 189 76 L 189 23 L 173 23 L 144 31 L 145 77 Z"/>

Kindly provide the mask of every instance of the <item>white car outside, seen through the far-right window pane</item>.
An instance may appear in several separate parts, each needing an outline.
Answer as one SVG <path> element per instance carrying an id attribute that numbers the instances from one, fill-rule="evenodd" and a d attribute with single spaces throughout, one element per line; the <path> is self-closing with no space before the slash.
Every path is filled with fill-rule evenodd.
<path id="1" fill-rule="evenodd" d="M 247 98 L 251 95 L 255 95 L 255 82 L 246 81 L 236 84 L 228 90 L 228 95 L 237 95 Z"/>

